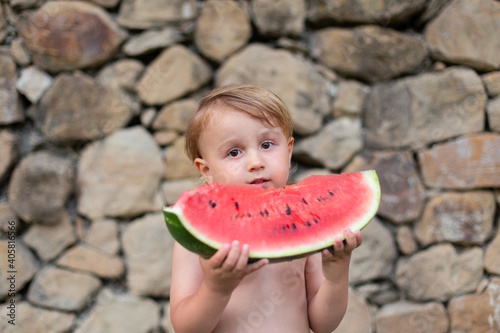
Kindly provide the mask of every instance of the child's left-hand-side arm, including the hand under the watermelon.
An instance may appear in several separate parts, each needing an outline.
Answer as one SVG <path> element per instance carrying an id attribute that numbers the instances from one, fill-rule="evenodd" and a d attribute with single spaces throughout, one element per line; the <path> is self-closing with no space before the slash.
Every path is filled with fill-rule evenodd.
<path id="1" fill-rule="evenodd" d="M 210 259 L 202 259 L 175 244 L 172 262 L 170 314 L 175 331 L 212 332 L 233 290 L 248 274 L 267 263 L 247 265 L 248 246 L 223 246 Z"/>

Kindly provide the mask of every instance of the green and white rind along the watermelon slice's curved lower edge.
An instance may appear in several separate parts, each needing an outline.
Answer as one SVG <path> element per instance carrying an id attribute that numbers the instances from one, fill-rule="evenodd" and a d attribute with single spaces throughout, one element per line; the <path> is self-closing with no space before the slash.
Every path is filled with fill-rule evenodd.
<path id="1" fill-rule="evenodd" d="M 375 216 L 380 204 L 381 191 L 376 171 L 367 170 L 361 171 L 360 173 L 363 174 L 363 178 L 367 182 L 367 185 L 372 189 L 374 200 L 372 201 L 372 206 L 367 209 L 364 216 L 351 225 L 350 229 L 352 231 L 362 230 Z M 202 235 L 197 235 L 196 230 L 192 229 L 189 226 L 189 223 L 186 223 L 186 219 L 184 218 L 180 208 L 176 206 L 164 206 L 163 213 L 167 228 L 174 239 L 189 251 L 197 253 L 204 258 L 209 258 L 223 245 L 211 241 Z M 333 234 L 321 243 L 296 247 L 293 252 L 284 250 L 281 252 L 272 251 L 266 253 L 261 251 L 253 253 L 250 249 L 250 261 L 267 258 L 270 262 L 281 262 L 306 257 L 325 248 L 331 247 L 334 240 L 339 236 L 342 237 L 342 239 L 344 238 L 342 234 Z"/>

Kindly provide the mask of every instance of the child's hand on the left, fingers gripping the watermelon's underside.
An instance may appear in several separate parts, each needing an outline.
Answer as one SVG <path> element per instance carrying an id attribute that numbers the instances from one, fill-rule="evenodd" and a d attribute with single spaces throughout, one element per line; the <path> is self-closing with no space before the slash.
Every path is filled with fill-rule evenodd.
<path id="1" fill-rule="evenodd" d="M 238 241 L 222 246 L 210 259 L 200 258 L 207 287 L 214 291 L 230 294 L 248 274 L 266 265 L 269 260 L 261 259 L 248 264 L 247 244 L 240 248 Z"/>

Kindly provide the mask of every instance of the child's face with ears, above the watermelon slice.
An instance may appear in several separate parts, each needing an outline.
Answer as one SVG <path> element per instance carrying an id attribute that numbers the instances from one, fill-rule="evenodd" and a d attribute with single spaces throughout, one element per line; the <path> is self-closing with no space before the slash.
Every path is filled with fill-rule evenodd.
<path id="1" fill-rule="evenodd" d="M 209 183 L 254 184 L 264 188 L 286 185 L 293 138 L 281 127 L 267 127 L 246 113 L 217 110 L 200 135 L 203 158 L 195 159 Z"/>

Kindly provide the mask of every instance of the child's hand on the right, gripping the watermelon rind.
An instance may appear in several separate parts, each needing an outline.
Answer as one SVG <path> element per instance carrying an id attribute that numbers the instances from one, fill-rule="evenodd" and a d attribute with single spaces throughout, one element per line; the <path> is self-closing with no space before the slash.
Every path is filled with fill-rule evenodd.
<path id="1" fill-rule="evenodd" d="M 327 280 L 333 280 L 334 276 L 338 275 L 338 265 L 346 265 L 349 268 L 351 260 L 351 252 L 359 247 L 363 242 L 363 236 L 360 231 L 354 233 L 351 229 L 344 231 L 345 241 L 341 237 L 337 237 L 332 247 L 324 249 L 322 254 L 323 274 Z M 336 266 L 337 268 L 333 267 Z M 330 278 L 332 277 L 332 278 Z"/>

